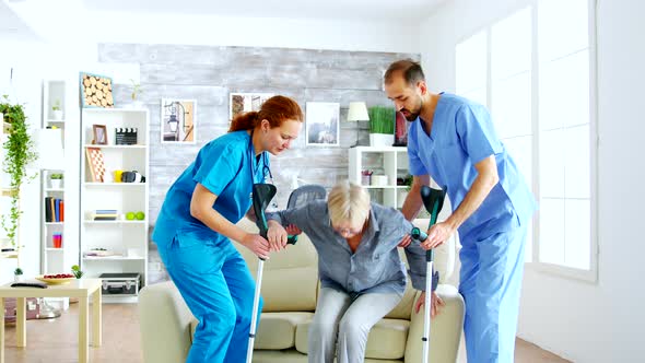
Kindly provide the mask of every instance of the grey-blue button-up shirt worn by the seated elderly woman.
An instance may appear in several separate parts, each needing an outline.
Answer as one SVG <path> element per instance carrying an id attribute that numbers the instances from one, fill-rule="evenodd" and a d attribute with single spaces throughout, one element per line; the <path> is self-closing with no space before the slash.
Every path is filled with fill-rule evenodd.
<path id="1" fill-rule="evenodd" d="M 399 211 L 372 203 L 370 223 L 356 251 L 331 227 L 327 202 L 268 213 L 283 226 L 294 224 L 307 234 L 318 251 L 318 273 L 322 288 L 347 293 L 399 293 L 406 291 L 406 268 L 397 245 L 410 233 L 412 223 Z M 425 250 L 417 243 L 406 248 L 412 286 L 425 290 Z"/>

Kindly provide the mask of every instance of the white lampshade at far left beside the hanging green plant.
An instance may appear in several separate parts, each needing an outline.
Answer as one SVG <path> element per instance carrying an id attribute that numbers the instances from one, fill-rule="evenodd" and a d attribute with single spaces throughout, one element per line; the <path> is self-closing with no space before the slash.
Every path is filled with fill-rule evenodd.
<path id="1" fill-rule="evenodd" d="M 36 160 L 30 168 L 60 171 L 64 168 L 62 129 L 36 129 L 32 134 Z"/>

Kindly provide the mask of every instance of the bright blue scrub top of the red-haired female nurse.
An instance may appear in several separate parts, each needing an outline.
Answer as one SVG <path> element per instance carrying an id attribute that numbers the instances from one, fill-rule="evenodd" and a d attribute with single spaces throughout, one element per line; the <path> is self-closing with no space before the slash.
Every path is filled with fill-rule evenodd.
<path id="1" fill-rule="evenodd" d="M 218 196 L 213 209 L 232 223 L 237 223 L 251 207 L 255 183 L 265 183 L 269 157 L 262 152 L 255 157 L 250 136 L 246 131 L 226 133 L 207 143 L 197 159 L 171 186 L 157 216 L 152 241 L 169 244 L 180 233 L 198 234 L 214 243 L 226 239 L 190 215 L 190 200 L 197 184 Z M 253 176 L 251 176 L 253 173 Z"/>

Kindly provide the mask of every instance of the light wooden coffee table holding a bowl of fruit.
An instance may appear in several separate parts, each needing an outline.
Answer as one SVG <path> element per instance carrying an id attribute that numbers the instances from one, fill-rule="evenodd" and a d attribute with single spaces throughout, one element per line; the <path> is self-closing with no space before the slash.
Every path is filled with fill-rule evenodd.
<path id="1" fill-rule="evenodd" d="M 101 279 L 78 279 L 67 284 L 38 288 L 11 288 L 11 283 L 0 286 L 0 363 L 4 363 L 4 298 L 16 297 L 15 339 L 17 347 L 27 346 L 26 297 L 78 297 L 79 298 L 79 362 L 90 360 L 90 296 L 92 296 L 92 346 L 101 347 Z"/>

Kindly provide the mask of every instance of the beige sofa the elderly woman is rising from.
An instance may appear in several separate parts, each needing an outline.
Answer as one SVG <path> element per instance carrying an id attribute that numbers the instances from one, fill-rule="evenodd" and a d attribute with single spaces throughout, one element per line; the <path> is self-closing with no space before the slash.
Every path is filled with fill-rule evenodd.
<path id="1" fill-rule="evenodd" d="M 418 220 L 414 224 L 426 227 L 427 220 Z M 239 225 L 257 231 L 246 219 Z M 257 258 L 236 245 L 255 277 Z M 432 321 L 430 362 L 433 363 L 455 362 L 461 337 L 464 300 L 455 286 L 442 283 L 454 268 L 454 250 L 450 241 L 435 253 L 435 265 L 443 272 L 437 292 L 446 306 Z M 265 262 L 261 286 L 265 306 L 255 341 L 254 362 L 307 362 L 307 331 L 318 289 L 317 255 L 305 234 L 300 236 L 295 246 L 289 246 L 288 251 L 273 254 Z M 372 328 L 365 362 L 421 362 L 423 311 L 413 312 L 417 296 L 408 283 L 401 303 Z M 145 362 L 184 362 L 197 320 L 173 282 L 142 289 L 139 314 Z"/>

